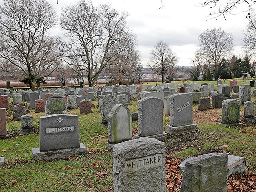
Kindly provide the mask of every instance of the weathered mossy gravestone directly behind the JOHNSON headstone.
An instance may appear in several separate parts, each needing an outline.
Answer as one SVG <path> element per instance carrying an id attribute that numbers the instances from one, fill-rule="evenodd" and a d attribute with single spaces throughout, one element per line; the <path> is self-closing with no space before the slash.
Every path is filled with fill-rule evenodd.
<path id="1" fill-rule="evenodd" d="M 46 101 L 45 116 L 53 114 L 67 114 L 67 105 L 62 97 L 52 97 Z"/>

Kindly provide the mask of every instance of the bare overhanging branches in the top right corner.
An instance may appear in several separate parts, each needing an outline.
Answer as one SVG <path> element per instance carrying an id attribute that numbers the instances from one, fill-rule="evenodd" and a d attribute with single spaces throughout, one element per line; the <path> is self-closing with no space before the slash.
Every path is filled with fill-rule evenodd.
<path id="1" fill-rule="evenodd" d="M 210 13 L 212 18 L 226 16 L 229 14 L 238 14 L 239 12 L 246 12 L 246 18 L 251 13 L 254 13 L 256 1 L 255 0 L 206 0 L 201 4 L 203 7 L 209 6 L 213 11 Z M 244 6 L 244 10 L 239 10 L 238 7 Z"/>

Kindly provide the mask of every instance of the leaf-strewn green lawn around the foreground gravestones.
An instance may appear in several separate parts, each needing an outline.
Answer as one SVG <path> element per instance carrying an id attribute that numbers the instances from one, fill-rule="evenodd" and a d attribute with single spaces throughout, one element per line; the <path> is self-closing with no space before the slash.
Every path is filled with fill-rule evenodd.
<path id="1" fill-rule="evenodd" d="M 137 102 L 131 103 L 130 112 L 136 112 Z M 94 106 L 91 114 L 80 115 L 79 109 L 68 110 L 68 114 L 76 114 L 79 118 L 80 142 L 89 152 L 83 156 L 35 161 L 31 149 L 39 146 L 38 132 L 0 140 L 0 156 L 4 156 L 6 162 L 5 166 L 0 167 L 0 191 L 113 191 L 112 152 L 105 148 L 107 126 L 101 126 L 97 102 L 93 101 L 92 104 Z M 34 117 L 34 126 L 39 129 L 39 117 L 44 114 L 36 114 L 33 110 L 29 114 Z M 241 128 L 225 128 L 218 125 L 220 114 L 221 109 L 197 111 L 197 105 L 194 105 L 194 123 L 203 134 L 194 132 L 168 136 L 165 141 L 166 154 L 180 160 L 210 152 L 245 156 L 250 164 L 249 169 L 256 172 L 255 125 L 243 123 Z M 166 125 L 170 124 L 169 118 L 164 116 L 164 131 Z M 137 122 L 132 123 L 133 135 L 138 133 L 137 126 Z M 7 129 L 11 133 L 15 133 L 19 127 L 20 122 L 7 123 Z"/>

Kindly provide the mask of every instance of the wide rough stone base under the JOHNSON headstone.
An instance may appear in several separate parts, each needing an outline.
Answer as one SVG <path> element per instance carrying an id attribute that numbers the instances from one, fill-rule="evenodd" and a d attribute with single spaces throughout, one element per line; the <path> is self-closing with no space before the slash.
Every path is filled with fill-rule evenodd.
<path id="1" fill-rule="evenodd" d="M 68 157 L 71 155 L 86 154 L 87 150 L 84 144 L 80 143 L 79 148 L 62 149 L 56 151 L 44 151 L 40 152 L 39 148 L 32 148 L 32 155 L 35 160 L 40 159 L 58 159 L 62 157 Z"/>

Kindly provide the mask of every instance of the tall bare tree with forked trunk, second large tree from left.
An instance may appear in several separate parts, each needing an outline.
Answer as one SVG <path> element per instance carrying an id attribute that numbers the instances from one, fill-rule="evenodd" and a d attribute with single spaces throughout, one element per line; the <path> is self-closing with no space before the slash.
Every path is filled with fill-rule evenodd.
<path id="1" fill-rule="evenodd" d="M 67 55 L 85 66 L 89 86 L 112 59 L 108 51 L 126 32 L 126 16 L 108 4 L 95 8 L 90 0 L 62 9 L 60 25 L 67 30 L 66 42 L 72 46 Z"/>

